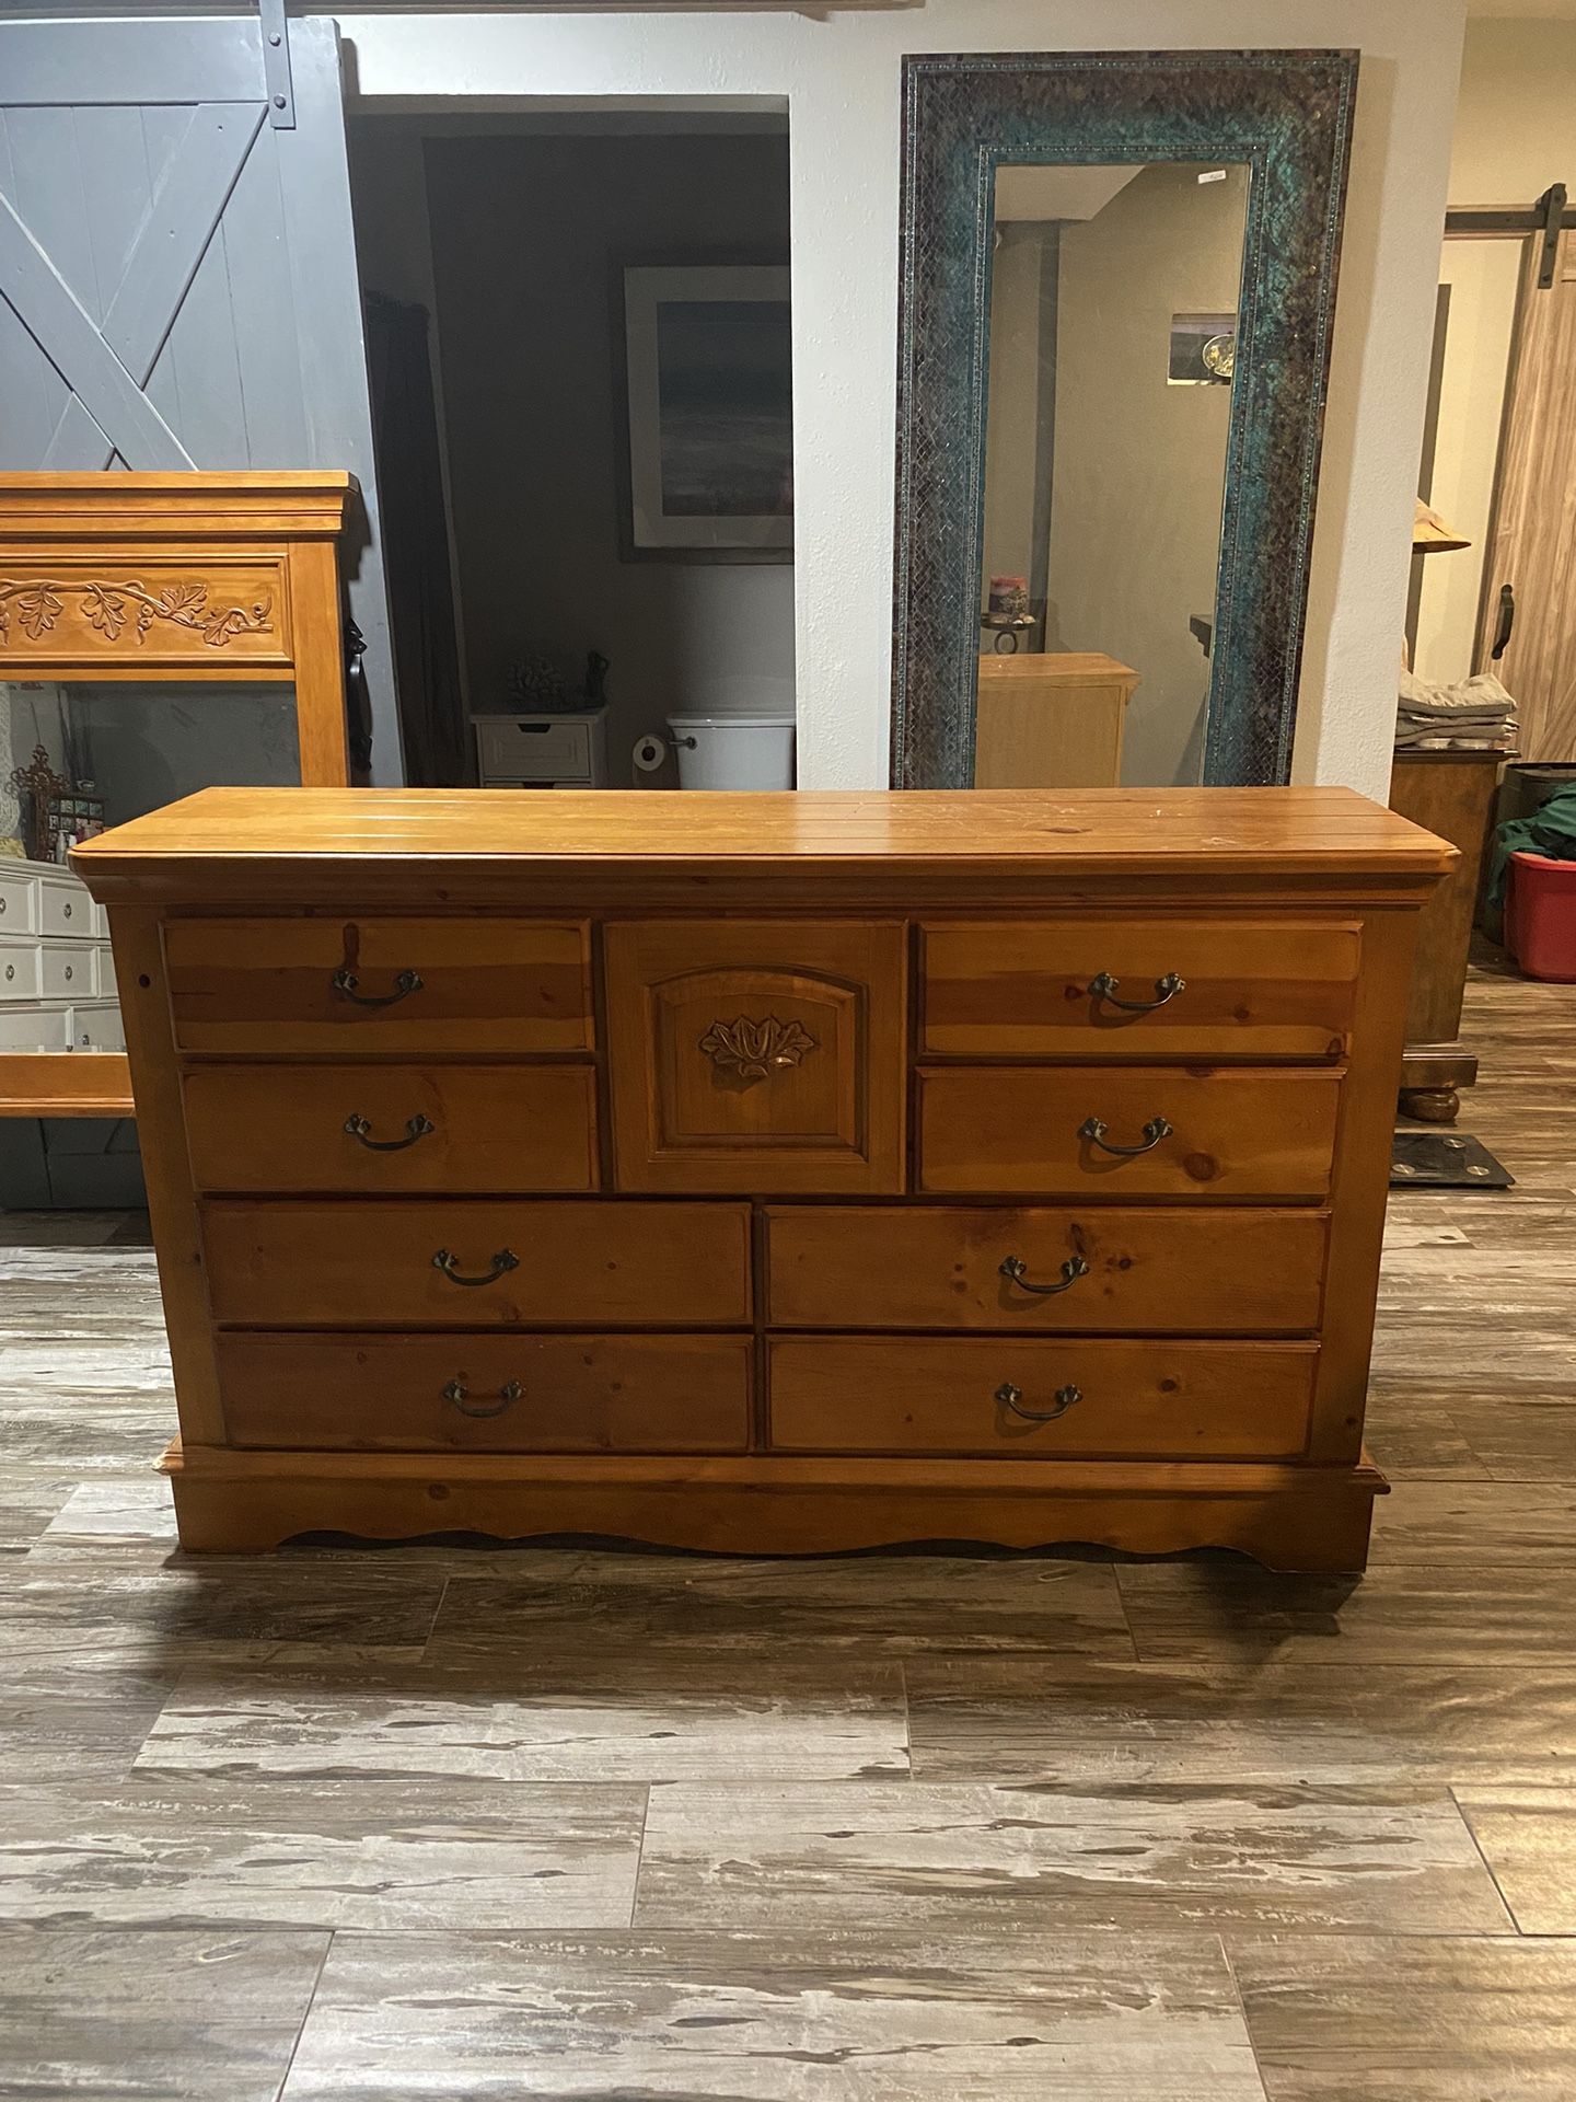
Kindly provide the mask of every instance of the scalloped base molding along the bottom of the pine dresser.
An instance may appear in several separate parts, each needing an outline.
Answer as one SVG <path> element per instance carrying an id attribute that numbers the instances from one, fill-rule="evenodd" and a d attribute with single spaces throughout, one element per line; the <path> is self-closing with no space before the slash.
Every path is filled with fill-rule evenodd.
<path id="1" fill-rule="evenodd" d="M 300 1532 L 410 1541 L 593 1534 L 729 1555 L 897 1541 L 1091 1545 L 1137 1555 L 1236 1547 L 1271 1570 L 1362 1570 L 1374 1497 L 1355 1467 L 1122 1461 L 546 1459 L 422 1452 L 164 1455 L 181 1545 L 256 1553 Z"/>

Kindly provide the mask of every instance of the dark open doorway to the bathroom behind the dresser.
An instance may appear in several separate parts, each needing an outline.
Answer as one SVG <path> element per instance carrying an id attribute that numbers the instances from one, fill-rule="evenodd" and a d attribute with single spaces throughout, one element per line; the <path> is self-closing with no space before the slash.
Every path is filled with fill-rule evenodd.
<path id="1" fill-rule="evenodd" d="M 370 343 L 401 332 L 410 780 L 677 786 L 712 719 L 788 748 L 786 109 L 364 105 L 351 195 Z"/>

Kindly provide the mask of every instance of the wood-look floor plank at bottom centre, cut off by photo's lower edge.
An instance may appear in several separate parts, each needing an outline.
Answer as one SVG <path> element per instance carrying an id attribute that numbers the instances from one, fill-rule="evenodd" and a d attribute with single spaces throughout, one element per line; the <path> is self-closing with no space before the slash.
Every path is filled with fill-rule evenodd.
<path id="1" fill-rule="evenodd" d="M 1263 2102 L 1208 1934 L 334 1938 L 284 2102 Z"/>

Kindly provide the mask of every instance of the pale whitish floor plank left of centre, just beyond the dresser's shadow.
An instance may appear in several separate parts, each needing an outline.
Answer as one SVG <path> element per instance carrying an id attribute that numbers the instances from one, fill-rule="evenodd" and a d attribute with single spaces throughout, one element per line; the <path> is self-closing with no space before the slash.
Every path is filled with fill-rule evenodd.
<path id="1" fill-rule="evenodd" d="M 901 1780 L 895 1663 L 532 1654 L 471 1671 L 187 1673 L 139 1772 Z"/>

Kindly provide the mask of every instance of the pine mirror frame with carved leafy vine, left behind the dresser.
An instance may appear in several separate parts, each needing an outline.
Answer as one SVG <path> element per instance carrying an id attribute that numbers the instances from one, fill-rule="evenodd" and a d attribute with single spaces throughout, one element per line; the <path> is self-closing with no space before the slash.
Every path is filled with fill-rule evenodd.
<path id="1" fill-rule="evenodd" d="M 0 679 L 288 683 L 300 780 L 351 778 L 347 473 L 0 475 Z M 118 1051 L 0 1057 L 0 1116 L 130 1116 Z"/>

